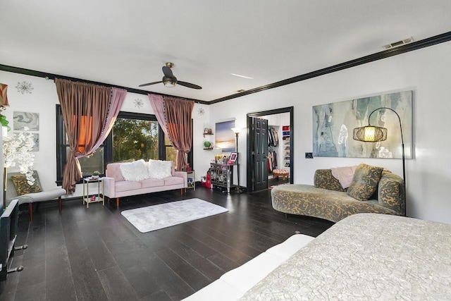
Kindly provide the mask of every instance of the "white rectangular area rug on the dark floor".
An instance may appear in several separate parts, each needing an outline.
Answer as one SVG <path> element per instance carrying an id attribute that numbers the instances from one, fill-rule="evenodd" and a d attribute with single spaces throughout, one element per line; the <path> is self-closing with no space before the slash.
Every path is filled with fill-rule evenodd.
<path id="1" fill-rule="evenodd" d="M 125 210 L 121 213 L 135 228 L 145 233 L 227 211 L 228 209 L 224 207 L 205 202 L 202 199 L 184 199 L 178 202 Z"/>

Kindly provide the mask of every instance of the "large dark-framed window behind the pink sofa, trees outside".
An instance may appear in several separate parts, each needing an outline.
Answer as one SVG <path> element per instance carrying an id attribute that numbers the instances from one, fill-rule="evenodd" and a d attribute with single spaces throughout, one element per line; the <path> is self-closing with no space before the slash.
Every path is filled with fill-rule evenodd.
<path id="1" fill-rule="evenodd" d="M 56 175 L 61 185 L 69 145 L 64 131 L 61 106 L 56 105 Z M 176 161 L 177 151 L 161 130 L 156 116 L 143 113 L 120 112 L 110 135 L 99 149 L 89 157 L 80 158 L 83 177 L 93 171 L 105 173 L 106 164 L 138 159 L 160 159 Z M 188 154 L 192 166 L 192 152 Z"/>

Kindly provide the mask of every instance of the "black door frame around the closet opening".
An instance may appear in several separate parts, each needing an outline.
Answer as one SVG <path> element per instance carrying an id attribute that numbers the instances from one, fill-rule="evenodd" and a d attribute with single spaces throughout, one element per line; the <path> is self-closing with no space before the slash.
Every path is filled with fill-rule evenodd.
<path id="1" fill-rule="evenodd" d="M 280 108 L 280 109 L 273 109 L 273 110 L 268 110 L 268 111 L 259 111 L 259 112 L 254 112 L 254 113 L 247 113 L 247 192 L 252 192 L 254 189 L 254 185 L 252 185 L 252 171 L 254 170 L 254 167 L 252 166 L 253 164 L 253 157 L 252 157 L 252 151 L 254 150 L 254 143 L 253 140 L 251 139 L 252 136 L 252 118 L 254 117 L 261 117 L 261 116 L 266 116 L 266 115 L 274 115 L 274 114 L 279 114 L 279 113 L 290 113 L 290 184 L 294 183 L 293 182 L 293 171 L 295 169 L 294 166 L 294 160 L 293 160 L 293 154 L 295 153 L 294 150 L 294 121 L 295 121 L 295 114 L 294 114 L 294 106 L 288 106 L 285 108 Z M 252 142 L 252 145 L 251 145 Z"/>

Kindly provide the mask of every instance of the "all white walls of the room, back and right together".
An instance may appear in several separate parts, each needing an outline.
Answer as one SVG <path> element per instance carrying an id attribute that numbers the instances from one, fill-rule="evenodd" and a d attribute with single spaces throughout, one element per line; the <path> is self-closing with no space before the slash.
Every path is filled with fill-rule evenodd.
<path id="1" fill-rule="evenodd" d="M 295 137 L 295 183 L 313 183 L 317 168 L 350 166 L 365 161 L 367 164 L 385 166 L 402 174 L 400 159 L 314 158 L 304 159 L 312 151 L 311 107 L 318 104 L 340 102 L 369 95 L 414 90 L 414 159 L 407 160 L 407 215 L 420 219 L 451 223 L 451 142 L 447 129 L 451 128 L 451 42 L 412 51 L 319 78 L 304 80 L 292 85 L 231 99 L 210 106 L 196 104 L 192 113 L 194 169 L 196 180 L 204 176 L 216 151 L 204 150 L 203 129 L 214 128 L 218 121 L 235 117 L 235 126 L 245 128 L 246 114 L 295 107 L 292 124 Z M 16 91 L 17 82 L 32 82 L 32 94 Z M 39 152 L 35 168 L 41 175 L 44 188 L 56 184 L 56 125 L 55 104 L 58 97 L 53 80 L 0 71 L 0 82 L 8 87 L 11 106 L 4 112 L 12 125 L 13 111 L 39 113 Z M 137 109 L 134 99 L 144 102 Z M 199 114 L 204 109 L 204 115 Z M 240 108 L 237 110 L 236 108 Z M 128 93 L 123 111 L 153 113 L 147 96 Z M 214 141 L 214 136 L 211 137 Z M 246 151 L 246 130 L 239 137 L 240 153 Z M 240 156 L 240 184 L 246 185 L 246 156 Z M 80 185 L 79 185 L 80 186 Z M 75 195 L 81 195 L 81 187 Z"/>

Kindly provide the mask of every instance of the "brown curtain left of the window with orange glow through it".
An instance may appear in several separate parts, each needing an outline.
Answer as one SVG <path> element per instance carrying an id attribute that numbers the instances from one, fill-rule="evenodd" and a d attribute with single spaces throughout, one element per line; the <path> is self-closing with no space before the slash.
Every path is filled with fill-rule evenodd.
<path id="1" fill-rule="evenodd" d="M 63 188 L 72 194 L 75 183 L 82 178 L 78 158 L 92 154 L 103 137 L 111 102 L 111 87 L 58 78 L 55 83 L 70 148 L 63 171 Z"/>

